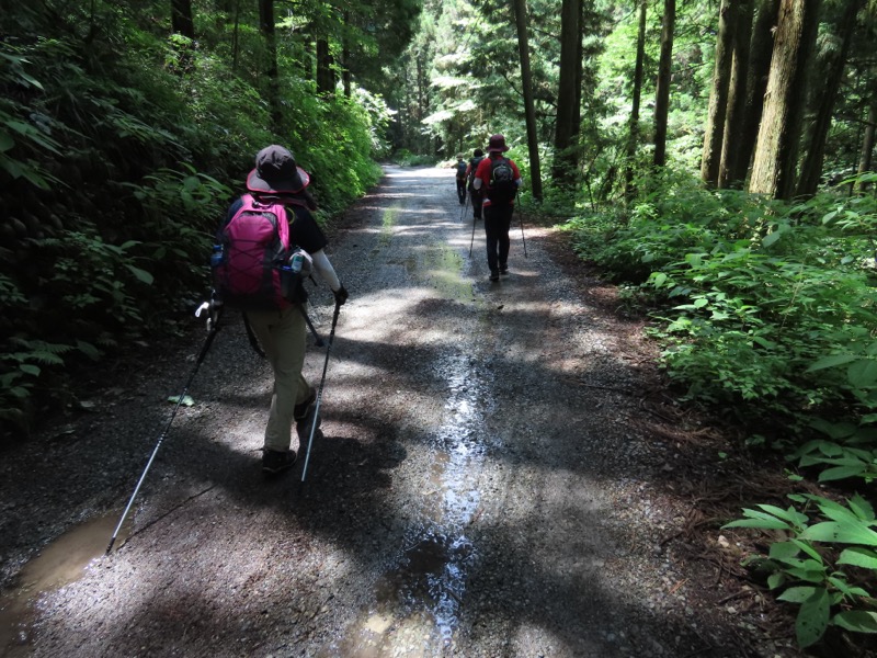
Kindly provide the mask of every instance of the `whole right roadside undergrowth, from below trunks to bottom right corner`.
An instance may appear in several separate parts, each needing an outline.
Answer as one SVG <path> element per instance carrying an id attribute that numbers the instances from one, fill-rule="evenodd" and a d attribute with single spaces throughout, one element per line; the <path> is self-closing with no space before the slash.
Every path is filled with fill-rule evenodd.
<path id="1" fill-rule="evenodd" d="M 630 216 L 567 226 L 570 266 L 611 279 L 663 349 L 674 402 L 648 424 L 675 446 L 667 495 L 690 508 L 667 541 L 714 567 L 710 604 L 802 655 L 875 651 L 874 211 L 676 181 Z"/>

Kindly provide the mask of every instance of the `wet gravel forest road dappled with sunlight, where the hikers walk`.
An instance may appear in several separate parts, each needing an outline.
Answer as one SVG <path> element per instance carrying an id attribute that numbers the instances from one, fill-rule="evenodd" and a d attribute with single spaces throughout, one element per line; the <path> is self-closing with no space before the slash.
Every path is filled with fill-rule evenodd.
<path id="1" fill-rule="evenodd" d="M 704 604 L 711 576 L 662 544 L 684 519 L 654 497 L 670 457 L 637 422 L 647 348 L 589 304 L 546 231 L 527 229 L 524 258 L 515 226 L 511 274 L 490 283 L 460 212 L 451 171 L 390 168 L 349 213 L 330 256 L 351 298 L 304 485 L 300 462 L 262 477 L 270 373 L 227 317 L 127 541 L 32 586 L 7 655 L 779 655 L 739 646 L 749 632 Z M 316 292 L 321 332 L 331 311 Z M 201 340 L 4 456 L 7 611 L 62 531 L 105 514 L 89 531 L 102 554 Z M 315 384 L 323 358 L 309 349 Z"/>

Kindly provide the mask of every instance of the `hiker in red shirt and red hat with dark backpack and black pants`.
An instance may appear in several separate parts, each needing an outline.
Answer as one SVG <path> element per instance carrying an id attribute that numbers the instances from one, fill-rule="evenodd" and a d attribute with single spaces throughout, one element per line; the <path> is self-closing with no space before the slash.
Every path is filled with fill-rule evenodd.
<path id="1" fill-rule="evenodd" d="M 472 186 L 483 192 L 490 281 L 499 281 L 500 274 L 509 273 L 509 228 L 512 225 L 514 197 L 522 183 L 517 164 L 502 155 L 508 150 L 505 137 L 493 135 L 487 147 L 488 157 L 478 164 L 472 181 Z"/>

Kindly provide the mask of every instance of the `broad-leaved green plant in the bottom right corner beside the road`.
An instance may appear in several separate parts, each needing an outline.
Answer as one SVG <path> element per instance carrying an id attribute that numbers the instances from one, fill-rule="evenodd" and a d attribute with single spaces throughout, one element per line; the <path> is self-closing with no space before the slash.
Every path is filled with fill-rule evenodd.
<path id="1" fill-rule="evenodd" d="M 767 556 L 753 556 L 745 564 L 766 576 L 770 589 L 782 591 L 779 601 L 799 605 L 795 624 L 798 645 L 812 646 L 829 626 L 877 633 L 877 592 L 869 589 L 877 575 L 874 508 L 858 495 L 846 506 L 821 496 L 789 498 L 802 506 L 802 511 L 794 506 L 784 510 L 759 504 L 759 509 L 744 509 L 744 519 L 724 527 L 771 533 L 774 541 Z"/>

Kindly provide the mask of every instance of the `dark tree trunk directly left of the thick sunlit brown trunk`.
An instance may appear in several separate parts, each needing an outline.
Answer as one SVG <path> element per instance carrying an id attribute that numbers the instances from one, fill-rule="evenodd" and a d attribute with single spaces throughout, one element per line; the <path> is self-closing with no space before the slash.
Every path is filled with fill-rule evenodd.
<path id="1" fill-rule="evenodd" d="M 749 171 L 752 152 L 759 137 L 759 124 L 764 109 L 764 92 L 767 91 L 767 77 L 771 71 L 771 57 L 774 52 L 774 29 L 779 13 L 779 0 L 756 0 L 758 13 L 752 26 L 749 46 L 749 71 L 747 71 L 747 101 L 740 129 L 740 151 L 734 159 L 730 178 L 743 181 Z"/>

